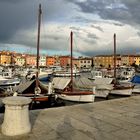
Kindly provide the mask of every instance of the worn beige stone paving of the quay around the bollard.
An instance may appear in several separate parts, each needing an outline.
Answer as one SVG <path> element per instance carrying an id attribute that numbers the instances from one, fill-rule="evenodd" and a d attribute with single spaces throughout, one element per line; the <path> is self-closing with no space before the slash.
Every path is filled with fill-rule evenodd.
<path id="1" fill-rule="evenodd" d="M 140 96 L 33 110 L 30 121 L 29 134 L 8 137 L 0 130 L 0 140 L 139 140 Z"/>

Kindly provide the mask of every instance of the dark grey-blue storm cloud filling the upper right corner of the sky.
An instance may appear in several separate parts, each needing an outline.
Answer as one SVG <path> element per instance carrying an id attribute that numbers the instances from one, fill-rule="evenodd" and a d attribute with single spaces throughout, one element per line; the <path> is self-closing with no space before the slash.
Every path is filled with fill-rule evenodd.
<path id="1" fill-rule="evenodd" d="M 70 2 L 70 0 L 68 0 Z M 82 12 L 98 14 L 102 19 L 116 20 L 125 24 L 139 24 L 139 0 L 72 0 Z"/>

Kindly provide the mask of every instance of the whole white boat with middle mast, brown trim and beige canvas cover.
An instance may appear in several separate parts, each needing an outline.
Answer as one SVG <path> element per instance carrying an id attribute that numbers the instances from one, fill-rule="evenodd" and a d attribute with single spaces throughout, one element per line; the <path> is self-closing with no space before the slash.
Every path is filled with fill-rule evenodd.
<path id="1" fill-rule="evenodd" d="M 86 90 L 79 90 L 79 89 L 74 89 L 73 86 L 73 61 L 72 61 L 72 45 L 73 45 L 73 32 L 70 33 L 71 37 L 71 78 L 66 79 L 66 78 L 61 78 L 57 79 L 58 83 L 55 83 L 55 80 L 53 79 L 54 83 L 54 89 L 56 92 L 58 92 L 58 97 L 63 99 L 63 100 L 68 100 L 68 101 L 74 101 L 74 102 L 94 102 L 95 98 L 95 90 L 94 91 L 86 91 Z M 59 77 L 57 77 L 59 78 Z M 65 81 L 67 80 L 67 81 Z M 58 87 L 56 89 L 55 85 L 58 86 L 60 85 L 60 88 Z"/>

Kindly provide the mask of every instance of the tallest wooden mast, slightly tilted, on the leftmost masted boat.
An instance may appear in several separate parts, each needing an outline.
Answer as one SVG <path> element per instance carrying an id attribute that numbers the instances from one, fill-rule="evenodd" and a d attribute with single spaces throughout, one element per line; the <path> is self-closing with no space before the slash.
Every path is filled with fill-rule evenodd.
<path id="1" fill-rule="evenodd" d="M 39 48 L 40 48 L 40 25 L 41 25 L 41 4 L 39 4 L 39 10 L 38 10 L 38 35 L 37 35 L 37 60 L 36 60 L 36 88 L 39 86 L 39 80 L 38 80 L 38 72 L 39 72 Z"/>

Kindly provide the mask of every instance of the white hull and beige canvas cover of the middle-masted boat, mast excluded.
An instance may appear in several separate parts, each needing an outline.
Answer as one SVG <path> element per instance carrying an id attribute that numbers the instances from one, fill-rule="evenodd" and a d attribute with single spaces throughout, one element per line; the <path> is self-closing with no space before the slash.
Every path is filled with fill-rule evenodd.
<path id="1" fill-rule="evenodd" d="M 85 89 L 75 89 L 70 91 L 70 84 L 70 78 L 53 78 L 52 85 L 55 93 L 58 93 L 58 98 L 74 102 L 94 102 L 95 91 L 86 91 Z"/>

